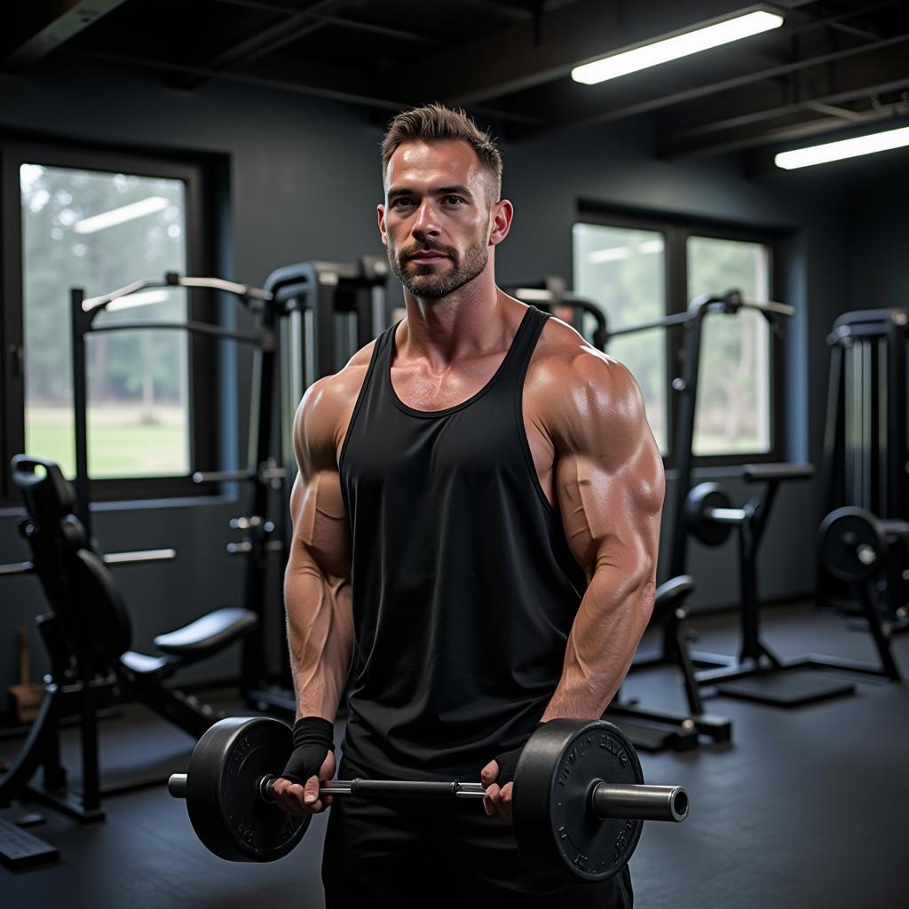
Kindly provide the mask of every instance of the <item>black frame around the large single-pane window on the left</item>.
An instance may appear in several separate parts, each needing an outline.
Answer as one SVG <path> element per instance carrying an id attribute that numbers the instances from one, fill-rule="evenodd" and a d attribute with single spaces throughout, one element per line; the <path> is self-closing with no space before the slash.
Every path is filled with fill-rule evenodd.
<path id="1" fill-rule="evenodd" d="M 63 145 L 51 141 L 0 139 L 0 233 L 4 237 L 0 258 L 0 287 L 5 305 L 0 313 L 0 350 L 3 351 L 4 393 L 0 404 L 0 507 L 21 504 L 12 484 L 9 469 L 14 454 L 25 451 L 25 301 L 23 299 L 23 225 L 19 185 L 20 167 L 39 164 L 109 174 L 128 174 L 180 180 L 185 184 L 186 270 L 190 275 L 212 271 L 214 244 L 211 240 L 215 218 L 212 216 L 210 185 L 213 184 L 202 162 L 192 158 L 146 155 L 133 151 Z M 135 275 L 136 279 L 157 275 Z M 113 291 L 115 287 L 105 288 Z M 61 287 L 68 296 L 69 288 Z M 187 318 L 214 323 L 217 317 L 215 295 L 187 290 Z M 66 326 L 70 334 L 69 325 Z M 179 476 L 122 477 L 92 479 L 92 502 L 115 502 L 162 498 L 183 498 L 217 494 L 216 484 L 195 484 L 195 469 L 216 469 L 220 458 L 218 445 L 218 405 L 215 400 L 217 352 L 215 342 L 190 334 L 187 402 L 189 405 L 189 471 Z M 24 364 L 23 364 L 24 365 Z M 197 401 L 211 402 L 199 407 Z M 35 453 L 37 454 L 37 453 Z M 199 465 L 199 468 L 196 467 Z"/>

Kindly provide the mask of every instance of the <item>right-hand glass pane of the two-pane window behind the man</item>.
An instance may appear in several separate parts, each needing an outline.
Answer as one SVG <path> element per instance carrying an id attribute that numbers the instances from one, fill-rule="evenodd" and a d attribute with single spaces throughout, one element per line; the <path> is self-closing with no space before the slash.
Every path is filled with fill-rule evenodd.
<path id="1" fill-rule="evenodd" d="M 688 237 L 688 297 L 741 290 L 754 300 L 770 293 L 766 246 L 716 237 Z M 704 319 L 697 385 L 694 454 L 770 451 L 770 328 L 754 310 Z"/>

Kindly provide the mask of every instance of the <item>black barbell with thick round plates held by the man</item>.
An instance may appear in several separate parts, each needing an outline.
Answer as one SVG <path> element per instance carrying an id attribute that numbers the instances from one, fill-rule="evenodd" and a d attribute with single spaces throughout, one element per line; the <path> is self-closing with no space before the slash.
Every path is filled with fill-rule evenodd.
<path id="1" fill-rule="evenodd" d="M 185 774 L 167 788 L 185 798 L 190 821 L 215 855 L 271 862 L 289 853 L 309 817 L 286 814 L 273 801 L 275 776 L 292 749 L 289 726 L 270 717 L 231 717 L 199 740 Z M 479 783 L 334 780 L 319 793 L 414 799 L 482 799 Z M 634 747 L 604 721 L 552 720 L 524 746 L 514 774 L 514 836 L 534 867 L 550 874 L 603 881 L 634 853 L 644 820 L 683 821 L 680 786 L 644 785 Z"/>

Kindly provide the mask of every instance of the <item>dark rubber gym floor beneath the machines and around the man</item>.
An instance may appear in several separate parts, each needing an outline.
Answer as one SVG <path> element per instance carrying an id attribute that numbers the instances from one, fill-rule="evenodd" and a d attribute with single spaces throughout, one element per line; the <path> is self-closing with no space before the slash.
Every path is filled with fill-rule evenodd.
<path id="1" fill-rule="evenodd" d="M 733 616 L 696 617 L 699 649 L 734 651 Z M 805 652 L 872 658 L 870 638 L 842 616 L 795 604 L 764 611 L 764 638 L 783 656 Z M 646 642 L 645 642 L 646 643 Z M 894 639 L 909 672 L 909 634 Z M 626 696 L 680 707 L 671 670 L 632 674 Z M 230 694 L 213 698 L 248 714 Z M 708 709 L 733 721 L 733 743 L 684 754 L 641 754 L 649 782 L 684 784 L 692 809 L 682 825 L 645 824 L 631 862 L 635 904 L 647 909 L 897 909 L 909 900 L 902 853 L 909 786 L 909 691 L 860 680 L 854 696 L 791 710 L 726 698 Z M 338 740 L 343 727 L 336 729 Z M 0 759 L 15 754 L 0 743 Z M 67 754 L 75 735 L 65 734 Z M 45 814 L 32 832 L 60 850 L 55 864 L 0 869 L 2 904 L 15 909 L 268 909 L 323 905 L 319 863 L 325 815 L 281 862 L 229 864 L 198 843 L 185 805 L 168 797 L 168 774 L 185 769 L 192 742 L 139 707 L 102 724 L 106 786 L 137 778 L 161 783 L 105 798 L 103 824 Z M 75 766 L 75 760 L 67 760 Z M 480 810 L 479 807 L 477 810 Z"/>

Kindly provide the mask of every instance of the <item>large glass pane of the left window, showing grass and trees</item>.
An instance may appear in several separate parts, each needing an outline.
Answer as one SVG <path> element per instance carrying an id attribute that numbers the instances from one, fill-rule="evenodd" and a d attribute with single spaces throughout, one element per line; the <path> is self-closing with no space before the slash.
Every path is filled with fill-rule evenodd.
<path id="1" fill-rule="evenodd" d="M 25 447 L 75 471 L 69 288 L 104 294 L 185 272 L 185 184 L 43 165 L 20 168 L 24 247 Z M 125 297 L 110 322 L 185 321 L 182 289 Z M 91 334 L 88 469 L 95 477 L 189 472 L 185 332 Z"/>

